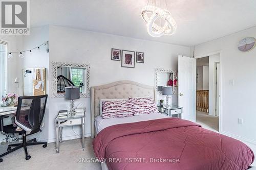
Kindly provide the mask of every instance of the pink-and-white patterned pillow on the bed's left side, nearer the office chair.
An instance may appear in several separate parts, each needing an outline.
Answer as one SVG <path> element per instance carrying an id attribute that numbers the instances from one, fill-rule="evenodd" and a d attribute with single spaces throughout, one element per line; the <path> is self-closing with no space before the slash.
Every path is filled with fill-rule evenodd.
<path id="1" fill-rule="evenodd" d="M 104 101 L 102 103 L 102 118 L 133 116 L 133 106 L 130 100 Z"/>

